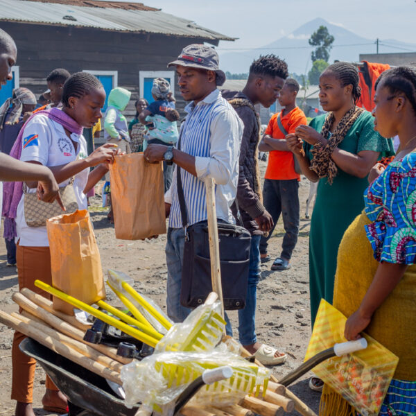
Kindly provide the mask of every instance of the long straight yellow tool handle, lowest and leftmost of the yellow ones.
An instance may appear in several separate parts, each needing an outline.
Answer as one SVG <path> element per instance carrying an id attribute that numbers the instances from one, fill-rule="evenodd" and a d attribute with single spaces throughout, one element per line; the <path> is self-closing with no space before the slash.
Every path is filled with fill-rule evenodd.
<path id="1" fill-rule="evenodd" d="M 116 327 L 117 329 L 120 329 L 120 331 L 127 333 L 128 335 L 132 336 L 133 338 L 136 338 L 142 343 L 150 345 L 150 347 L 155 347 L 159 341 L 153 336 L 150 336 L 147 333 L 139 331 L 139 329 L 130 327 L 130 325 L 125 324 L 125 322 L 122 322 L 121 320 L 113 318 L 112 316 L 107 315 L 107 313 L 98 311 L 92 306 L 89 306 L 89 304 L 86 304 L 85 302 L 81 302 L 75 297 L 67 295 L 67 293 L 59 291 L 58 289 L 53 288 L 51 285 L 46 284 L 43 281 L 35 280 L 35 286 L 37 286 L 38 288 L 41 288 L 42 291 L 51 293 L 51 295 L 59 297 L 59 299 L 64 300 L 65 302 L 71 304 L 72 306 L 76 306 L 76 308 L 78 309 L 82 309 L 83 311 L 90 313 L 96 318 L 101 319 L 103 322 L 110 324 L 113 327 Z"/>

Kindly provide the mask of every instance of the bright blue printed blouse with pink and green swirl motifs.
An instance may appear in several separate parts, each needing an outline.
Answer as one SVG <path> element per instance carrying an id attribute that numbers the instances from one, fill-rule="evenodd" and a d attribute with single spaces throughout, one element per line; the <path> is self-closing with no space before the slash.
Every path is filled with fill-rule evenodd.
<path id="1" fill-rule="evenodd" d="M 416 262 L 416 153 L 391 162 L 364 193 L 365 226 L 374 257 L 388 263 Z"/>

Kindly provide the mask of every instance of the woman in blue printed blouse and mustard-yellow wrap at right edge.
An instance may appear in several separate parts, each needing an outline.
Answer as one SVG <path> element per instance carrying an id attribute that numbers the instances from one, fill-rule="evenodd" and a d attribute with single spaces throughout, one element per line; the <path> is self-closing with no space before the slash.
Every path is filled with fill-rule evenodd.
<path id="1" fill-rule="evenodd" d="M 333 305 L 345 338 L 365 331 L 399 357 L 380 415 L 416 415 L 416 70 L 385 71 L 375 85 L 376 130 L 399 135 L 397 155 L 364 193 L 365 209 L 338 251 Z M 320 415 L 352 415 L 327 386 Z"/>

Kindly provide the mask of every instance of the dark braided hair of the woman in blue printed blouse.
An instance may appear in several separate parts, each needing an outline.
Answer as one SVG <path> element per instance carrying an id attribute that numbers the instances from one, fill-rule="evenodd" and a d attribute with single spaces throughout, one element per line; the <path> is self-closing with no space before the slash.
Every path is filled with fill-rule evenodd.
<path id="1" fill-rule="evenodd" d="M 377 78 L 374 88 L 383 82 L 393 96 L 403 93 L 416 114 L 416 69 L 413 67 L 396 67 L 381 73 Z"/>

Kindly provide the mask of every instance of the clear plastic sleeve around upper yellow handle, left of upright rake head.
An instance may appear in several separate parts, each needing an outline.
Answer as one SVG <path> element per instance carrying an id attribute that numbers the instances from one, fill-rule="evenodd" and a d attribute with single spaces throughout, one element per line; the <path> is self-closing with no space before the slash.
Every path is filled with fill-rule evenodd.
<path id="1" fill-rule="evenodd" d="M 135 281 L 130 276 L 126 275 L 123 272 L 118 272 L 116 270 L 108 270 L 107 281 L 111 284 L 111 286 L 116 288 L 117 291 L 123 293 L 123 295 L 125 295 L 125 297 L 127 297 L 128 300 L 130 300 L 130 302 L 132 302 L 132 304 L 134 304 L 136 308 L 139 309 L 140 313 L 144 315 L 144 318 L 148 320 L 148 322 L 153 326 L 153 328 L 156 329 L 156 331 L 162 333 L 163 335 L 167 333 L 167 329 L 123 288 L 123 281 L 130 284 L 130 286 L 133 286 L 135 284 Z M 156 309 L 156 311 L 163 315 L 163 317 L 166 320 L 168 320 L 168 322 L 171 322 L 171 324 L 173 324 L 173 322 L 168 318 L 164 311 L 162 311 L 162 309 L 160 309 L 159 306 L 157 306 L 157 304 L 153 302 L 153 300 L 150 300 L 148 297 L 144 296 L 141 293 L 140 296 L 143 297 L 148 304 L 153 306 L 153 308 Z"/>

